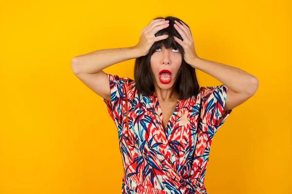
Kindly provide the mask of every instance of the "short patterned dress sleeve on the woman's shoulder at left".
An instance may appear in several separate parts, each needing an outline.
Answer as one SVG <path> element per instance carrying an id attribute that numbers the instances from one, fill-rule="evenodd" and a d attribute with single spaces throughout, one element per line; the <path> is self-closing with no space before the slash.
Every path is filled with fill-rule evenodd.
<path id="1" fill-rule="evenodd" d="M 121 128 L 123 124 L 123 117 L 125 114 L 127 105 L 127 94 L 126 87 L 128 86 L 127 78 L 120 78 L 118 75 L 108 74 L 109 82 L 110 82 L 110 99 L 103 98 L 103 102 L 105 103 L 108 113 L 117 126 L 117 128 Z"/>

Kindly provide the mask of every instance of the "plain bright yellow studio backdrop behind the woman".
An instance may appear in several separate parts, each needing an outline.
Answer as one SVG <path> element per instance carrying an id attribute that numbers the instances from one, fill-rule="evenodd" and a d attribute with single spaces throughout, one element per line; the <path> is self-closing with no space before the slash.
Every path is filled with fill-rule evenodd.
<path id="1" fill-rule="evenodd" d="M 117 129 L 73 57 L 136 45 L 157 16 L 187 23 L 202 59 L 259 81 L 216 133 L 209 194 L 291 194 L 291 2 L 3 1 L 0 6 L 0 194 L 120 194 Z M 105 72 L 133 79 L 134 59 Z M 220 81 L 197 70 L 200 86 Z"/>

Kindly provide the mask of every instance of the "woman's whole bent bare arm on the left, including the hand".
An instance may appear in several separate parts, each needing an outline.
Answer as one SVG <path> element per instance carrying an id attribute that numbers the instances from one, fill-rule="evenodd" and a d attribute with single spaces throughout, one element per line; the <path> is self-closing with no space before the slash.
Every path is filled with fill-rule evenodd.
<path id="1" fill-rule="evenodd" d="M 76 56 L 71 61 L 73 74 L 100 97 L 110 101 L 110 82 L 103 69 L 123 61 L 145 56 L 154 42 L 167 38 L 167 35 L 155 36 L 159 30 L 168 26 L 164 19 L 154 19 L 139 37 L 134 47 L 96 50 Z"/>

